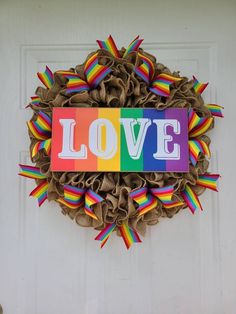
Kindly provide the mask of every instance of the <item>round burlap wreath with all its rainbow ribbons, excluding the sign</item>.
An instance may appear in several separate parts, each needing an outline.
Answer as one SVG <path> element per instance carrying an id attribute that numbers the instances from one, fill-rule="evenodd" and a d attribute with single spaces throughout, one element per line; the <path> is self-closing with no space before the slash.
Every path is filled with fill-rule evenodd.
<path id="1" fill-rule="evenodd" d="M 171 218 L 188 207 L 202 209 L 198 196 L 206 188 L 217 191 L 218 174 L 208 170 L 214 118 L 221 106 L 204 104 L 201 93 L 208 83 L 171 72 L 140 48 L 136 37 L 118 50 L 113 38 L 98 40 L 99 49 L 83 64 L 52 73 L 38 73 L 44 87 L 36 89 L 27 108 L 31 160 L 20 165 L 22 176 L 35 179 L 30 193 L 43 202 L 56 201 L 62 213 L 82 227 L 99 230 L 103 246 L 113 231 L 127 248 L 141 242 L 148 225 Z M 54 107 L 187 108 L 189 113 L 189 172 L 52 172 L 50 170 L 51 121 Z"/>

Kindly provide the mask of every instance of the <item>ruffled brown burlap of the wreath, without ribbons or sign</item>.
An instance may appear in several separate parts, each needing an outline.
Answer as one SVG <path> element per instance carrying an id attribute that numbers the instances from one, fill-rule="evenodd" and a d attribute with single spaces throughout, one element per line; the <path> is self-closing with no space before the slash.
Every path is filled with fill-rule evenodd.
<path id="1" fill-rule="evenodd" d="M 123 55 L 125 49 L 120 50 Z M 96 89 L 77 94 L 66 94 L 67 79 L 57 72 L 54 73 L 54 84 L 50 89 L 38 87 L 36 95 L 41 98 L 40 105 L 31 108 L 34 111 L 32 120 L 35 120 L 37 113 L 43 111 L 49 116 L 52 115 L 53 107 L 145 107 L 163 110 L 165 108 L 194 108 L 200 116 L 211 116 L 211 112 L 204 106 L 204 101 L 199 93 L 193 88 L 193 80 L 184 77 L 181 81 L 171 85 L 171 93 L 168 98 L 157 96 L 148 90 L 147 84 L 138 77 L 134 68 L 140 65 L 140 57 L 137 52 L 132 52 L 125 58 L 115 58 L 109 52 L 99 49 L 99 64 L 109 66 L 112 71 L 103 79 Z M 154 56 L 139 49 L 143 55 L 147 56 L 155 64 L 155 74 L 168 73 L 179 77 L 179 72 L 170 70 L 161 63 L 157 63 Z M 94 54 L 92 52 L 91 54 Z M 91 54 L 89 56 L 91 56 Z M 89 57 L 88 56 L 88 57 Z M 75 67 L 76 73 L 84 78 L 84 63 Z M 211 128 L 213 124 L 211 125 Z M 37 141 L 31 132 L 30 149 Z M 203 135 L 201 139 L 208 145 L 210 139 Z M 140 187 L 163 187 L 173 185 L 175 188 L 174 200 L 181 200 L 180 192 L 184 190 L 187 183 L 200 195 L 205 188 L 195 185 L 199 175 L 206 173 L 208 161 L 204 154 L 200 155 L 196 166 L 189 165 L 189 173 L 125 173 L 125 172 L 51 172 L 50 157 L 41 150 L 33 159 L 33 163 L 46 175 L 49 182 L 48 199 L 57 200 L 63 197 L 63 185 L 70 184 L 76 187 L 87 187 L 104 198 L 102 203 L 93 206 L 93 210 L 98 217 L 94 220 L 86 215 L 82 208 L 70 209 L 62 204 L 62 213 L 69 215 L 76 223 L 83 227 L 93 227 L 102 229 L 106 223 L 116 223 L 120 226 L 123 222 L 139 232 L 145 234 L 147 225 L 155 225 L 160 217 L 169 217 L 178 213 L 186 207 L 186 203 L 171 209 L 163 207 L 161 202 L 158 206 L 146 214 L 137 215 L 137 204 L 129 197 L 129 193 Z M 117 228 L 119 233 L 119 230 Z"/>

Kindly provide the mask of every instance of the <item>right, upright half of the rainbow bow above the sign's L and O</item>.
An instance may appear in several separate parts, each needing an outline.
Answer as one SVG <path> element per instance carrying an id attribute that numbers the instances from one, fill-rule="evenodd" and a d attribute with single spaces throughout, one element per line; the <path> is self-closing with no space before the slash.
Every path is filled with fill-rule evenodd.
<path id="1" fill-rule="evenodd" d="M 110 68 L 98 64 L 98 52 L 85 62 L 84 73 L 91 88 L 96 88 L 110 72 Z"/>

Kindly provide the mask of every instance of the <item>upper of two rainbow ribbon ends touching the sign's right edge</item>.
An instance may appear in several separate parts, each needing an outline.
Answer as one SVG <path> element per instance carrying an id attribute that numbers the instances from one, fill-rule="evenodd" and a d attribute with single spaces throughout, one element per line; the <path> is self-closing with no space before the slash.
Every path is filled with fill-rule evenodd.
<path id="1" fill-rule="evenodd" d="M 188 117 L 188 131 L 189 137 L 198 137 L 206 133 L 213 122 L 212 117 L 202 117 L 200 118 L 196 112 L 191 108 L 189 110 Z"/>

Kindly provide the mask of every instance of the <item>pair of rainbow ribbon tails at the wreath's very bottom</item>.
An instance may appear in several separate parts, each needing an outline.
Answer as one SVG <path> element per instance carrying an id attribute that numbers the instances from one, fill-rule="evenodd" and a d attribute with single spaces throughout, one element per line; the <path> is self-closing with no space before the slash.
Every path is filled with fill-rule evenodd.
<path id="1" fill-rule="evenodd" d="M 107 224 L 107 226 L 96 236 L 95 240 L 101 241 L 101 248 L 105 245 L 111 233 L 116 228 L 116 224 Z M 119 227 L 120 234 L 124 240 L 127 249 L 131 247 L 133 243 L 141 243 L 138 233 L 131 229 L 126 223 Z"/>

